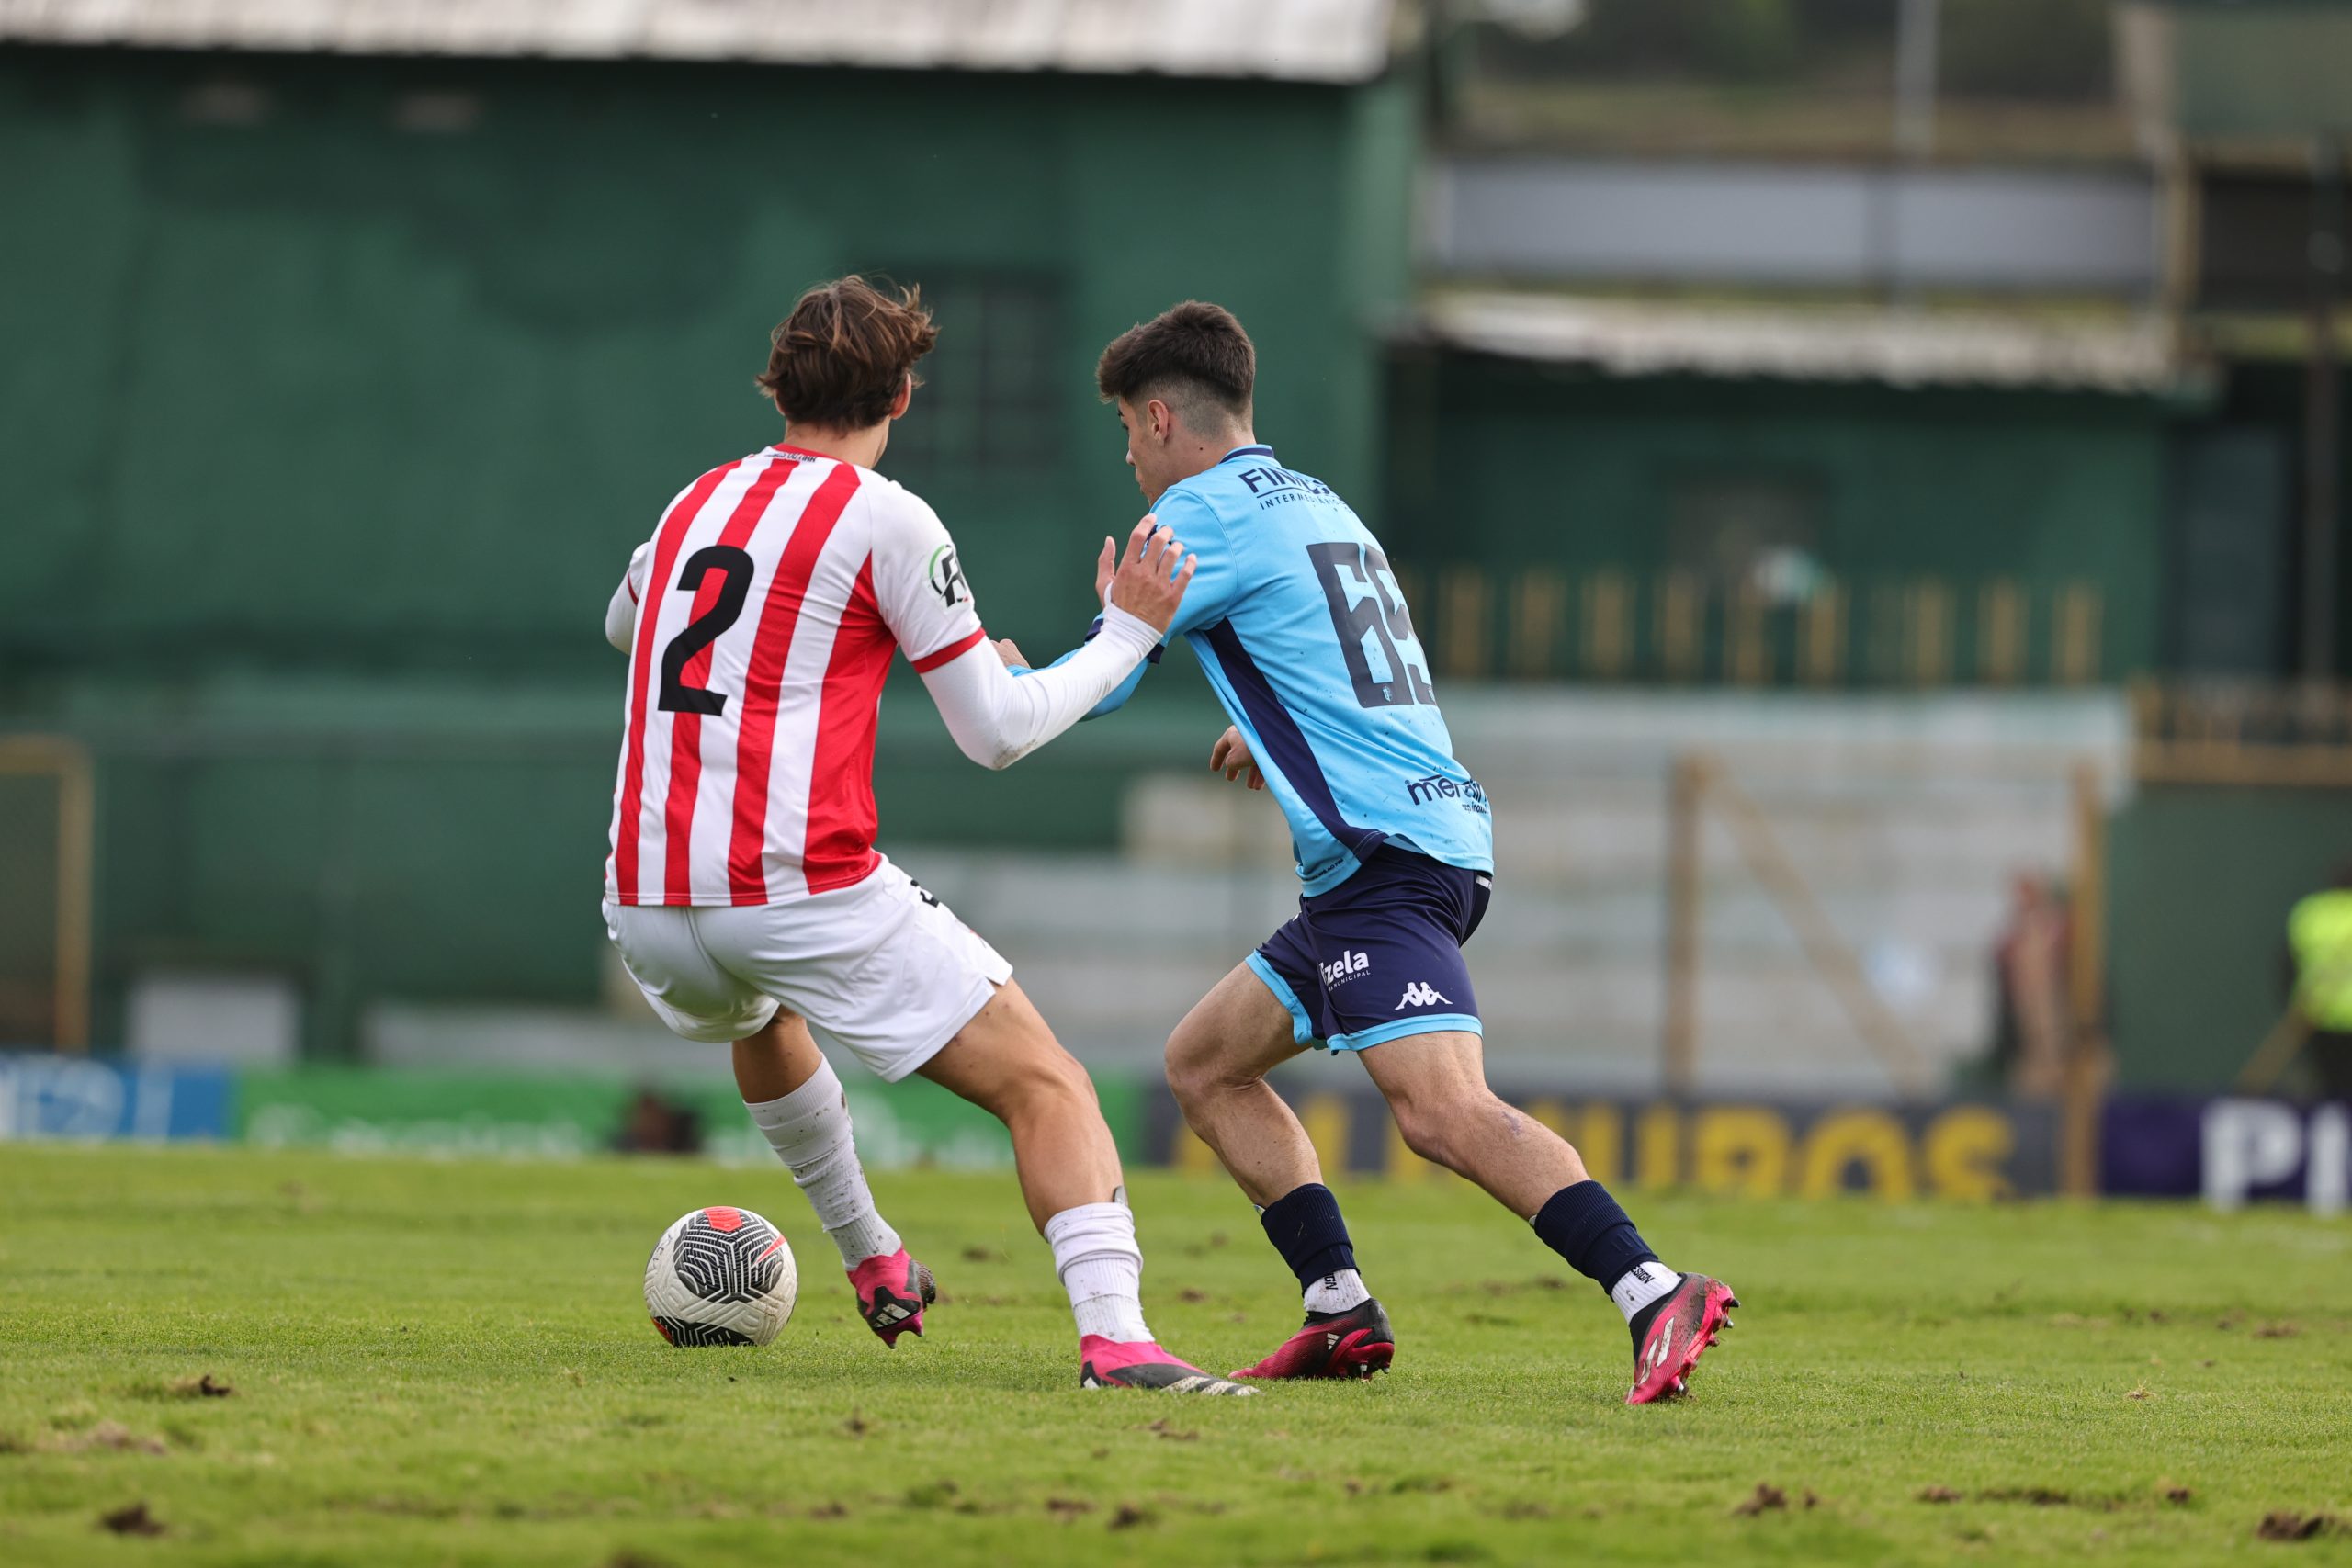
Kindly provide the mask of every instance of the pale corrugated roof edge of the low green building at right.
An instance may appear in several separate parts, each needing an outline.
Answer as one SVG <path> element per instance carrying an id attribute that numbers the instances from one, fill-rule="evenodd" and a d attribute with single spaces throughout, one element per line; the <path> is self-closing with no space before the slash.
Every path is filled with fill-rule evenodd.
<path id="1" fill-rule="evenodd" d="M 1611 376 L 1762 376 L 2129 395 L 2185 390 L 2201 378 L 2154 317 L 2051 322 L 1875 306 L 1745 308 L 1451 294 L 1423 306 L 1421 336 L 1512 360 L 1590 364 Z"/>

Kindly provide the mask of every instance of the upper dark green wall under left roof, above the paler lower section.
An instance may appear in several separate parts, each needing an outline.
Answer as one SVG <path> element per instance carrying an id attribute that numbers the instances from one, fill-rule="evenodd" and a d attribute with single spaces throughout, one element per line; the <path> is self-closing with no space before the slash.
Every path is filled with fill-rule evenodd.
<path id="1" fill-rule="evenodd" d="M 433 113 L 475 120 L 400 129 Z M 40 527 L 0 646 L 595 670 L 630 545 L 776 440 L 767 331 L 849 268 L 1037 292 L 1033 461 L 922 482 L 993 625 L 1063 635 L 1141 512 L 1094 357 L 1171 301 L 1232 306 L 1261 428 L 1376 494 L 1414 150 L 1402 82 L 14 49 L 0 465 Z"/>

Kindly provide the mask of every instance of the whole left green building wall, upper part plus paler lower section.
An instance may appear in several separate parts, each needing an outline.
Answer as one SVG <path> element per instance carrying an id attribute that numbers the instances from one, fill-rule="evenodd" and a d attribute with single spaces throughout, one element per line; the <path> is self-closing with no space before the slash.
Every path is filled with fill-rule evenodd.
<path id="1" fill-rule="evenodd" d="M 1021 461 L 898 473 L 1040 658 L 1143 510 L 1096 353 L 1178 299 L 1376 517 L 1416 153 L 1404 80 L 0 54 L 0 729 L 99 759 L 99 1037 L 155 966 L 296 978 L 329 1058 L 374 997 L 597 997 L 604 599 L 779 437 L 750 378 L 809 282 L 1033 301 Z M 929 374 L 917 421 L 985 428 Z M 1152 686 L 985 776 L 901 675 L 887 832 L 1110 842 L 1115 783 L 1197 750 L 1197 682 Z"/>

